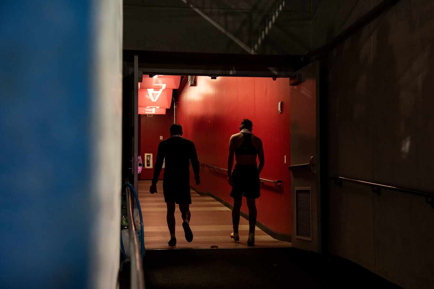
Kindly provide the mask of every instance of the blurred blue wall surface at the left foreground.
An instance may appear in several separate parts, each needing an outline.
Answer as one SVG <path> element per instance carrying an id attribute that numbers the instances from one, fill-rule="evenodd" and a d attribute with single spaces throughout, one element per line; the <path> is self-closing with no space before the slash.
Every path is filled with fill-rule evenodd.
<path id="1" fill-rule="evenodd" d="M 90 3 L 1 4 L 1 288 L 88 284 Z"/>

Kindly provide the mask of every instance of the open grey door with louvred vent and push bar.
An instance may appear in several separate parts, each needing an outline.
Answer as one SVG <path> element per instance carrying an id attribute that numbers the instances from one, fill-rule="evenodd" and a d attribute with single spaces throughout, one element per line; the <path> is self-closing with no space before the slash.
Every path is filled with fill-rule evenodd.
<path id="1" fill-rule="evenodd" d="M 315 252 L 321 251 L 318 78 L 312 62 L 289 80 L 292 244 Z"/>

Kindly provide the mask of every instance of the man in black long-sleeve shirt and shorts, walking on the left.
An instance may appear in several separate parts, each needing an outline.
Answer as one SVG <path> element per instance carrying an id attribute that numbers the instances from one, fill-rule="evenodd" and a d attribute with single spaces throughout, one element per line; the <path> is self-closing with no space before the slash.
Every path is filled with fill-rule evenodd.
<path id="1" fill-rule="evenodd" d="M 170 127 L 171 137 L 163 140 L 158 145 L 157 160 L 154 166 L 154 177 L 149 192 L 157 192 L 157 182 L 160 176 L 163 161 L 165 159 L 163 175 L 163 194 L 167 205 L 167 225 L 171 239 L 169 246 L 176 245 L 175 237 L 175 203 L 179 205 L 182 215 L 182 227 L 184 228 L 187 242 L 193 240 L 193 233 L 190 229 L 190 161 L 193 166 L 196 185 L 201 183 L 199 179 L 199 160 L 197 159 L 196 147 L 191 140 L 184 139 L 182 127 L 175 123 Z"/>

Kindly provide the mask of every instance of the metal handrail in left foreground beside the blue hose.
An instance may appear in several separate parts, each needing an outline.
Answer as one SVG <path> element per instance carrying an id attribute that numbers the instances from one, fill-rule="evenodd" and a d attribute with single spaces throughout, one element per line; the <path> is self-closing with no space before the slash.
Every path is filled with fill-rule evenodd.
<path id="1" fill-rule="evenodd" d="M 129 248 L 131 258 L 131 275 L 130 275 L 130 288 L 131 289 L 145 289 L 145 277 L 143 275 L 143 264 L 140 257 L 140 249 L 137 241 L 137 232 L 134 224 L 133 206 L 131 201 L 131 190 L 129 187 L 125 188 L 127 196 L 127 214 L 128 214 L 128 234 L 129 234 Z"/>

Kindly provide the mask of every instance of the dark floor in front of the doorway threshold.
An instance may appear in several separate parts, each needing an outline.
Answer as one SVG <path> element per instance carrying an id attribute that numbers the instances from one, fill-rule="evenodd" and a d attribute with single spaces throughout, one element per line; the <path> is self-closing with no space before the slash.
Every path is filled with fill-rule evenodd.
<path id="1" fill-rule="evenodd" d="M 146 288 L 400 288 L 340 257 L 295 248 L 148 250 Z"/>

